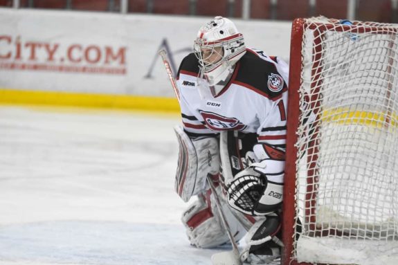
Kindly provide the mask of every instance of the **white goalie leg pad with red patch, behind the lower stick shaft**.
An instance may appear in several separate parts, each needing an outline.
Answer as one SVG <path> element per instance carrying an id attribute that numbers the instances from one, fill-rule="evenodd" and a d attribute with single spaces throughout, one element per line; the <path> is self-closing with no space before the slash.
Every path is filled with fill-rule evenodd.
<path id="1" fill-rule="evenodd" d="M 221 188 L 218 188 L 221 191 Z M 221 195 L 221 194 L 220 194 Z M 217 195 L 219 196 L 219 195 Z M 230 227 L 235 241 L 239 241 L 245 235 L 246 230 L 237 221 L 224 198 L 219 198 L 221 208 Z M 214 194 L 208 190 L 198 196 L 197 201 L 183 212 L 182 221 L 186 226 L 186 233 L 190 244 L 198 248 L 213 248 L 222 244 L 228 244 L 230 239 L 223 227 Z"/>

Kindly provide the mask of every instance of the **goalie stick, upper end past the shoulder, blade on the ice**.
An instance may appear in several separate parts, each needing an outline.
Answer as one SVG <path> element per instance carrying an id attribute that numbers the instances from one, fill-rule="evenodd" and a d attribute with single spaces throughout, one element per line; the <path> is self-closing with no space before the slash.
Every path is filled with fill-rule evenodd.
<path id="1" fill-rule="evenodd" d="M 173 73 L 172 73 L 172 68 L 170 67 L 170 63 L 168 61 L 167 53 L 165 50 L 159 51 L 159 55 L 161 55 L 163 64 L 165 65 L 166 71 L 168 72 L 168 77 L 170 79 L 170 83 L 172 84 L 172 87 L 174 89 L 174 93 L 177 97 L 177 100 L 180 101 L 180 93 L 179 89 L 177 87 L 177 83 L 174 80 Z M 228 223 L 226 222 L 226 218 L 224 215 L 224 212 L 221 209 L 221 203 L 219 201 L 219 197 L 217 196 L 217 192 L 215 190 L 214 183 L 212 183 L 212 178 L 211 174 L 208 174 L 206 177 L 208 184 L 210 185 L 210 189 L 212 191 L 212 194 L 214 194 L 215 197 L 215 202 L 219 211 L 219 215 L 221 217 L 222 224 L 224 226 L 224 229 L 226 230 L 228 237 L 230 239 L 230 243 L 232 244 L 232 251 L 226 251 L 226 252 L 221 252 L 221 253 L 215 253 L 212 255 L 211 260 L 212 260 L 212 265 L 242 265 L 242 262 L 240 260 L 240 254 L 239 254 L 239 249 L 237 248 L 237 244 L 235 242 L 235 239 L 230 232 L 230 228 L 228 226 Z"/>

